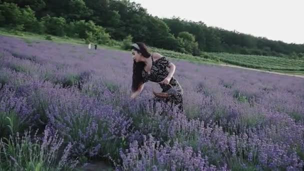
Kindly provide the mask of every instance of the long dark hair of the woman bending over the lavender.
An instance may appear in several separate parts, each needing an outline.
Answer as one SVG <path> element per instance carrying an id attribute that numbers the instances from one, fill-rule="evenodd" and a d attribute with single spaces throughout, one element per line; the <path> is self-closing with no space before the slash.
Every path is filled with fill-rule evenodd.
<path id="1" fill-rule="evenodd" d="M 141 53 L 142 56 L 149 58 L 151 54 L 148 52 L 147 46 L 143 42 L 136 42 L 139 49 L 136 46 L 132 46 L 131 49 L 136 50 L 137 53 Z M 138 90 L 139 86 L 143 83 L 142 70 L 144 62 L 133 61 L 133 75 L 132 75 L 132 91 Z"/>

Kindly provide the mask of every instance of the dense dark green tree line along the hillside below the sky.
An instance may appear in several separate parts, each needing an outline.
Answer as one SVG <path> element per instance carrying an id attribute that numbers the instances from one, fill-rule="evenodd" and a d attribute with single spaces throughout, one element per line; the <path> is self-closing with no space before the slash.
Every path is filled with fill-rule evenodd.
<path id="1" fill-rule="evenodd" d="M 0 26 L 100 44 L 131 35 L 132 41 L 193 55 L 205 51 L 304 59 L 304 44 L 211 27 L 202 21 L 158 18 L 129 0 L 0 0 Z"/>

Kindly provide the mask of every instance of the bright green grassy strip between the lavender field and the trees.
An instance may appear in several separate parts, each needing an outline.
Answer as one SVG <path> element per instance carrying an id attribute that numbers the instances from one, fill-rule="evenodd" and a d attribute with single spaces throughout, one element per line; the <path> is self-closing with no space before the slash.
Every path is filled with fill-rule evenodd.
<path id="1" fill-rule="evenodd" d="M 87 46 L 87 44 L 80 38 L 70 38 L 70 37 L 59 37 L 51 36 L 52 40 L 45 40 L 45 34 L 36 34 L 31 32 L 18 32 L 8 30 L 6 28 L 0 28 L 0 35 L 14 36 L 22 38 L 29 46 L 32 43 L 38 43 L 37 40 L 43 41 L 53 41 L 57 43 L 70 43 Z M 98 45 L 100 48 L 110 49 L 110 50 L 120 50 L 119 45 Z M 166 49 L 160 49 L 155 47 L 150 47 L 154 52 L 161 53 L 168 57 L 174 58 L 175 60 L 185 60 L 192 63 L 202 63 L 202 64 L 223 64 L 229 63 L 232 65 L 243 66 L 248 68 L 255 68 L 259 70 L 273 71 L 286 74 L 297 74 L 304 75 L 304 60 L 295 60 L 275 56 L 258 56 L 258 55 L 242 55 L 242 54 L 230 54 L 230 53 L 213 53 L 205 52 L 204 55 L 214 56 L 220 61 L 216 61 L 210 58 L 204 58 L 203 56 L 193 56 L 191 54 L 185 54 L 180 52 L 175 52 Z"/>

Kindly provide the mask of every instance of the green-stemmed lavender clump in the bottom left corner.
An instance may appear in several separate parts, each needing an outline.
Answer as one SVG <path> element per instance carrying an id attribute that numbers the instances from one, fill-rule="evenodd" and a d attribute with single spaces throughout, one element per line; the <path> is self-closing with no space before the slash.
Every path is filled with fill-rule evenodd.
<path id="1" fill-rule="evenodd" d="M 9 127 L 13 124 L 10 123 Z M 58 160 L 62 138 L 57 133 L 52 136 L 48 131 L 44 131 L 42 143 L 37 132 L 32 136 L 31 130 L 25 131 L 22 137 L 15 133 L 15 136 L 0 138 L 0 170 L 72 170 L 77 161 L 68 158 L 70 145 Z"/>

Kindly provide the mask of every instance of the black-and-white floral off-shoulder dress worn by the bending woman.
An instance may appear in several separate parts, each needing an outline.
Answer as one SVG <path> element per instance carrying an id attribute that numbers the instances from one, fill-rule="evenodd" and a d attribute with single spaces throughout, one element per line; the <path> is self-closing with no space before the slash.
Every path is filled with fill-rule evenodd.
<path id="1" fill-rule="evenodd" d="M 167 69 L 167 66 L 170 62 L 166 56 L 162 56 L 155 61 L 153 60 L 153 56 L 151 56 L 151 58 L 152 58 L 152 66 L 150 73 L 147 73 L 144 69 L 142 71 L 143 83 L 147 82 L 148 80 L 152 82 L 160 82 L 169 74 L 169 70 Z M 177 105 L 178 109 L 180 111 L 183 111 L 183 100 L 182 100 L 183 90 L 180 84 L 173 76 L 170 79 L 169 84 L 171 84 L 173 87 L 176 87 L 178 89 L 178 93 L 176 95 L 171 95 L 167 99 L 160 99 L 154 97 L 154 101 L 164 101 L 166 103 L 170 103 L 171 107 L 173 107 L 173 105 Z M 160 84 L 160 87 L 162 88 L 161 92 L 165 92 L 171 88 L 170 85 L 166 85 L 166 84 Z"/>

